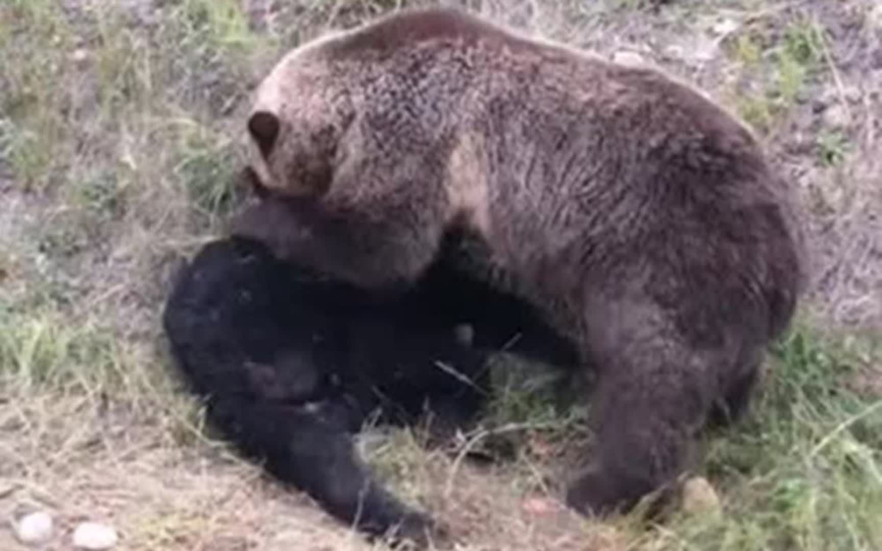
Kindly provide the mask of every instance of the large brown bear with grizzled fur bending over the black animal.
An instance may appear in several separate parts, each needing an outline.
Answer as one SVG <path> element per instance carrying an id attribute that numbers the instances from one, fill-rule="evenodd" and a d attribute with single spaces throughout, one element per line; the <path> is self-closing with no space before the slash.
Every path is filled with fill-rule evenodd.
<path id="1" fill-rule="evenodd" d="M 296 48 L 248 129 L 265 199 L 234 231 L 365 288 L 415 281 L 445 233 L 596 369 L 582 512 L 628 510 L 744 410 L 803 281 L 787 182 L 690 86 L 452 9 Z"/>

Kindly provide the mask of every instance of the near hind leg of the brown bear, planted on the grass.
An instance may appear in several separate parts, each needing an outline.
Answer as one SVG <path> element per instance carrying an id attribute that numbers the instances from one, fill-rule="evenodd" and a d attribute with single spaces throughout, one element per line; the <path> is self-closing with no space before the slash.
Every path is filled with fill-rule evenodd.
<path id="1" fill-rule="evenodd" d="M 725 361 L 721 351 L 685 344 L 659 309 L 608 312 L 592 348 L 597 456 L 567 491 L 574 509 L 596 515 L 627 512 L 655 491 L 665 501 L 713 404 L 716 362 Z"/>

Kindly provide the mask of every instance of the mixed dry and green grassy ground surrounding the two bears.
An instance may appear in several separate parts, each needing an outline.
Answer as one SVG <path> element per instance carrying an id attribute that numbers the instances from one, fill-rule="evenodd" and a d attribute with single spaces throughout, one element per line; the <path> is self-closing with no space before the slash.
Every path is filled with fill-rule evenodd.
<path id="1" fill-rule="evenodd" d="M 85 518 L 116 525 L 125 549 L 369 547 L 213 440 L 162 347 L 158 314 L 177 260 L 220 232 L 240 200 L 250 86 L 297 41 L 396 3 L 291 2 L 271 17 L 264 4 L 273 3 L 0 3 L 0 515 L 53 511 L 62 533 L 49 548 L 65 548 Z M 482 4 L 500 19 L 512 11 Z M 615 46 L 610 36 L 675 41 L 719 14 L 742 22 L 702 70 L 714 75 L 686 76 L 713 76 L 712 94 L 789 174 L 810 176 L 800 190 L 818 205 L 820 261 L 805 322 L 775 348 L 748 419 L 706 436 L 699 473 L 721 496 L 721 516 L 678 512 L 647 526 L 560 509 L 553 481 L 591 438 L 584 412 L 553 407 L 548 382 L 529 370 L 502 381 L 484 432 L 452 453 L 426 450 L 419 431 L 371 433 L 365 452 L 466 550 L 882 547 L 879 85 L 855 62 L 876 46 L 860 26 L 871 19 L 858 25 L 821 2 L 527 4 L 516 17 L 532 13 L 532 26 L 601 49 Z M 842 52 L 850 72 L 835 65 Z M 846 101 L 849 85 L 868 90 L 849 105 L 855 123 L 824 128 L 811 102 Z M 459 462 L 467 443 L 513 458 Z M 16 546 L 0 529 L 0 547 Z"/>

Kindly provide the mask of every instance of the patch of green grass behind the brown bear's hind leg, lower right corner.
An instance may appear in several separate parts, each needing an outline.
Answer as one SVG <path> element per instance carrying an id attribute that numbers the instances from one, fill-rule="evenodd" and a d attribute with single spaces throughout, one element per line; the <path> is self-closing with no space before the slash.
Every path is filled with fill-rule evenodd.
<path id="1" fill-rule="evenodd" d="M 736 434 L 708 443 L 706 476 L 726 515 L 685 518 L 651 548 L 872 549 L 882 531 L 882 400 L 843 388 L 855 364 L 796 332 L 777 347 L 764 395 Z M 831 350 L 836 352 L 831 354 Z"/>

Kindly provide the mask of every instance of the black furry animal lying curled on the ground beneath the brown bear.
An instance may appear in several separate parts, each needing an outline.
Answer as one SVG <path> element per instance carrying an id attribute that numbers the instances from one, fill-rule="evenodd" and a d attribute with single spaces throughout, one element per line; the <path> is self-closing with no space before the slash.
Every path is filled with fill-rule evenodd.
<path id="1" fill-rule="evenodd" d="M 523 302 L 443 265 L 403 294 L 377 294 L 243 238 L 198 252 L 163 324 L 208 421 L 244 454 L 364 532 L 417 540 L 430 518 L 378 485 L 353 449 L 367 416 L 411 423 L 428 408 L 442 428 L 461 426 L 488 398 L 488 354 L 517 333 L 513 352 L 575 361 Z M 457 335 L 460 324 L 473 339 Z"/>

